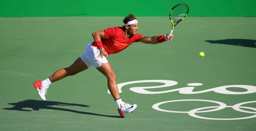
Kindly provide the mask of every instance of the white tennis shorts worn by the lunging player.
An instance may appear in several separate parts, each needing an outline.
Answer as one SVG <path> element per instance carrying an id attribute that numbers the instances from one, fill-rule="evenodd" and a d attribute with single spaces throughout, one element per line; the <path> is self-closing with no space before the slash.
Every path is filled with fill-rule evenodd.
<path id="1" fill-rule="evenodd" d="M 88 44 L 85 47 L 85 53 L 80 56 L 80 58 L 85 62 L 88 68 L 91 66 L 97 68 L 101 67 L 101 63 L 107 63 L 107 59 L 105 56 L 103 58 L 99 57 L 100 50 L 97 47 L 92 46 L 92 43 Z"/>

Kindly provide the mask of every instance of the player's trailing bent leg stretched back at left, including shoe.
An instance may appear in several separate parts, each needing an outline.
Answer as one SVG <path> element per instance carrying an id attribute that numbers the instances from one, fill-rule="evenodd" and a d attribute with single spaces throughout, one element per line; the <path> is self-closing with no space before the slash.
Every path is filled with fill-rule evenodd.
<path id="1" fill-rule="evenodd" d="M 47 94 L 47 88 L 49 87 L 49 85 L 52 82 L 59 81 L 59 80 L 63 79 L 64 77 L 72 76 L 72 75 L 77 74 L 86 69 L 88 69 L 87 65 L 85 64 L 85 62 L 83 62 L 81 57 L 79 57 L 78 59 L 76 59 L 74 61 L 74 63 L 71 66 L 64 68 L 64 69 L 59 69 L 58 71 L 54 72 L 54 74 L 52 74 L 52 76 L 45 79 L 44 81 L 36 81 L 33 84 L 34 84 L 39 96 L 41 97 L 41 99 L 45 101 L 46 100 L 45 95 Z"/>

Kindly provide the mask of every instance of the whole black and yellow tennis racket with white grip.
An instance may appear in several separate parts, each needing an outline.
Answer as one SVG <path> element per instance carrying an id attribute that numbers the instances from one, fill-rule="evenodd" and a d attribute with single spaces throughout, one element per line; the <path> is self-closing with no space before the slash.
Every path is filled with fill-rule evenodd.
<path id="1" fill-rule="evenodd" d="M 169 18 L 171 21 L 171 31 L 168 34 L 169 36 L 171 36 L 171 34 L 173 34 L 173 29 L 174 27 L 181 22 L 189 13 L 189 6 L 186 5 L 185 3 L 181 3 L 178 5 L 175 5 L 169 14 Z"/>

